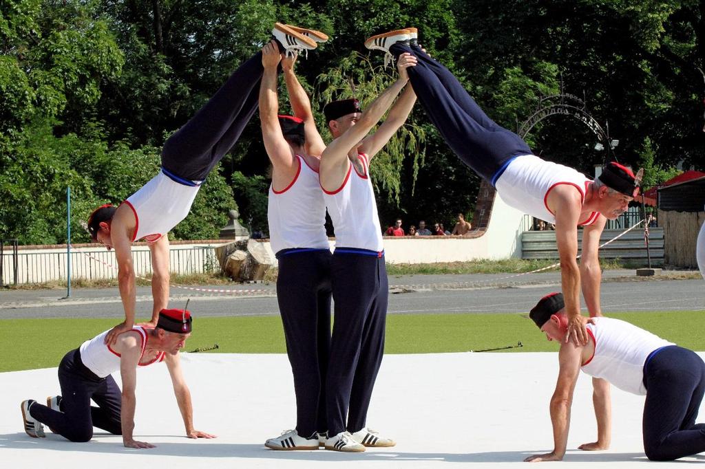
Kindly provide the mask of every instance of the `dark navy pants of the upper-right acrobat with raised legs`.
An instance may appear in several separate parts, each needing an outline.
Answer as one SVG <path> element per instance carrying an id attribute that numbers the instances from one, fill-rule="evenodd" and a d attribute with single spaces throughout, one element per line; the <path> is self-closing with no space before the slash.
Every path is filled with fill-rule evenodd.
<path id="1" fill-rule="evenodd" d="M 515 156 L 532 154 L 521 137 L 487 117 L 453 73 L 419 46 L 394 44 L 389 50 L 418 58 L 407 70 L 419 102 L 450 149 L 475 173 L 494 185 Z"/>

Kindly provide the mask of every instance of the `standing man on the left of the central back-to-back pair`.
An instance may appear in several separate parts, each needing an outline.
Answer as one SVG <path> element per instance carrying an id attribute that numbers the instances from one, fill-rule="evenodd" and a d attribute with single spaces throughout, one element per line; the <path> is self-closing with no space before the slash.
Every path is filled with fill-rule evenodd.
<path id="1" fill-rule="evenodd" d="M 323 39 L 321 32 L 311 31 Z M 284 73 L 294 115 L 278 115 L 277 68 Z M 327 430 L 325 380 L 331 341 L 331 251 L 319 185 L 325 144 L 309 98 L 294 74 L 295 56 L 282 58 L 272 41 L 262 49 L 259 119 L 272 164 L 269 234 L 278 260 L 276 297 L 294 377 L 296 427 L 266 440 L 275 450 L 319 449 Z"/>

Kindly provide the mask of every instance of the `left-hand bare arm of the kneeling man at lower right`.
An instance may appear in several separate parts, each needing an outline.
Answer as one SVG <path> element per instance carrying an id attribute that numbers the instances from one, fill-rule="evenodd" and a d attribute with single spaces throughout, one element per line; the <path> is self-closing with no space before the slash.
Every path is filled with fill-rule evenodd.
<path id="1" fill-rule="evenodd" d="M 558 352 L 558 382 L 551 397 L 551 425 L 553 426 L 553 451 L 546 454 L 529 456 L 524 461 L 537 463 L 539 461 L 561 461 L 568 445 L 568 430 L 570 429 L 570 406 L 572 405 L 575 382 L 580 373 L 582 346 L 572 342 L 560 344 Z"/>

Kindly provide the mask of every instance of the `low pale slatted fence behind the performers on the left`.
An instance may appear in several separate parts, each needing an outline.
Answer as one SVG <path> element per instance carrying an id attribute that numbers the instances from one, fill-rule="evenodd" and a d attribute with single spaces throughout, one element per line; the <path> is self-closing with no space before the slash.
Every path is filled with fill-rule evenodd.
<path id="1" fill-rule="evenodd" d="M 88 257 L 91 256 L 92 258 Z M 135 275 L 145 276 L 152 273 L 152 258 L 148 249 L 133 250 Z M 13 253 L 5 249 L 0 255 L 1 284 L 16 282 L 44 283 L 66 281 L 66 250 L 30 251 Z M 109 265 L 106 265 L 109 264 Z M 106 249 L 75 249 L 71 251 L 71 280 L 76 279 L 113 279 L 118 275 L 114 251 Z M 174 247 L 169 251 L 169 268 L 171 273 L 188 275 L 195 273 L 212 273 L 219 270 L 218 261 L 212 246 L 194 246 L 189 248 Z M 16 273 L 16 279 L 13 274 Z"/>

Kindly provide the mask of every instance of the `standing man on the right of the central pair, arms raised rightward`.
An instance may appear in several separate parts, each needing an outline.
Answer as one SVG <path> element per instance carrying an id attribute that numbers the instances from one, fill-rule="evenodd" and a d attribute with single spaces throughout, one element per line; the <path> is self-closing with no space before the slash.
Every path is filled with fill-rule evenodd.
<path id="1" fill-rule="evenodd" d="M 405 87 L 406 70 L 415 63 L 411 54 L 403 54 L 398 61 L 398 80 L 364 112 L 358 112 L 355 100 L 337 101 L 324 109 L 335 138 L 321 156 L 320 170 L 326 206 L 336 229 L 331 261 L 335 320 L 326 380 L 329 437 L 325 442 L 326 449 L 333 451 L 364 451 L 365 446 L 395 444 L 366 427 L 384 354 L 388 296 L 369 162 L 409 115 L 416 101 L 411 87 L 406 87 L 379 129 L 367 134 Z"/>

